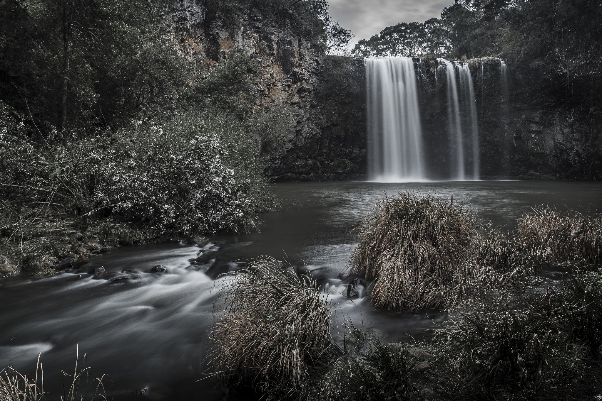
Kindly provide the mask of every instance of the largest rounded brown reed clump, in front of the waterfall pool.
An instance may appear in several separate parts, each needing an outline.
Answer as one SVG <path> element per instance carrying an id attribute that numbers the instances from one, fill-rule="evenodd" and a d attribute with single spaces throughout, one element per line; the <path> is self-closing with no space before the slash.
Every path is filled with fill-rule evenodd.
<path id="1" fill-rule="evenodd" d="M 516 277 L 492 268 L 510 266 L 511 253 L 503 233 L 483 227 L 463 202 L 405 192 L 386 197 L 364 219 L 350 274 L 373 281 L 376 306 L 447 308 Z"/>

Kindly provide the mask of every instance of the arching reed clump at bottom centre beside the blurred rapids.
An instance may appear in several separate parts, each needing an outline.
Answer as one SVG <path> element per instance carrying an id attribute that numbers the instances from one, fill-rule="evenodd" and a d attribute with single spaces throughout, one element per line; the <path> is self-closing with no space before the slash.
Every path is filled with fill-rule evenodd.
<path id="1" fill-rule="evenodd" d="M 261 257 L 223 289 L 209 360 L 228 385 L 248 384 L 267 399 L 286 398 L 329 360 L 330 308 L 311 275 Z"/>

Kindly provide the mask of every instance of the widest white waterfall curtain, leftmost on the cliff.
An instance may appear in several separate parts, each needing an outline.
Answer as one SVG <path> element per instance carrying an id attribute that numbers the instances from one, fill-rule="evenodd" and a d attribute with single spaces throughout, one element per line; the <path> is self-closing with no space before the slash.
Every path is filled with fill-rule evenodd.
<path id="1" fill-rule="evenodd" d="M 364 63 L 369 179 L 378 182 L 424 181 L 422 129 L 412 59 L 371 57 Z"/>

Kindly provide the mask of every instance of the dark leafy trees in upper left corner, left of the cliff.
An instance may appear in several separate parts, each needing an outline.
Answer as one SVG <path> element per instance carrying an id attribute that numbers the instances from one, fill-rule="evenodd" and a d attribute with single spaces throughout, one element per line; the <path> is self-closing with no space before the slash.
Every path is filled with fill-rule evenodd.
<path id="1" fill-rule="evenodd" d="M 63 129 L 119 124 L 172 104 L 190 76 L 158 5 L 2 0 L 0 9 L 0 99 L 44 129 L 63 118 Z"/>

